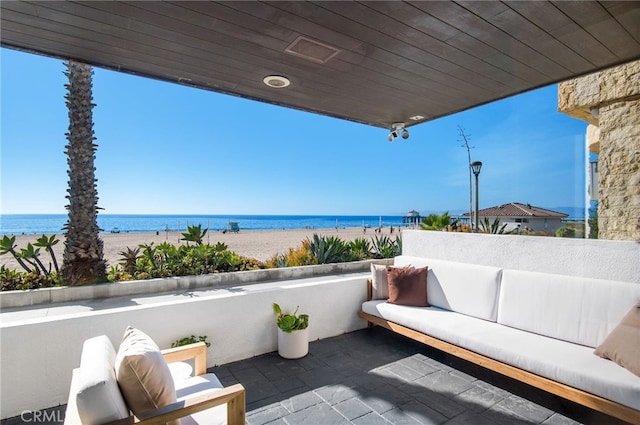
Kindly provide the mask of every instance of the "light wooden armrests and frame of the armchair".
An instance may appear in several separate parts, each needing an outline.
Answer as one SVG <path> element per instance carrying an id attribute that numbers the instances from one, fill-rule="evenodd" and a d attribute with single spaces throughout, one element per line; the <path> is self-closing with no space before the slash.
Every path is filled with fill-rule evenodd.
<path id="1" fill-rule="evenodd" d="M 194 374 L 196 376 L 204 375 L 207 372 L 207 346 L 204 342 L 169 348 L 162 350 L 162 354 L 167 363 L 194 359 Z M 109 422 L 106 425 L 130 425 L 134 423 L 139 425 L 163 425 L 166 422 L 225 403 L 227 404 L 227 424 L 245 425 L 246 395 L 245 389 L 241 384 L 200 392 L 196 396 L 187 397 L 183 401 L 156 409 L 145 419 L 140 420 L 135 416 L 129 416 Z"/>

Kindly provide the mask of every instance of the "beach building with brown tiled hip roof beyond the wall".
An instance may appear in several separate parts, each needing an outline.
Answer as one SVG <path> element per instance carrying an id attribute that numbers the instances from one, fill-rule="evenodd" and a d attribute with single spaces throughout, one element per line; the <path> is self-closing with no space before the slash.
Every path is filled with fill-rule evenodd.
<path id="1" fill-rule="evenodd" d="M 465 213 L 462 216 L 468 219 L 469 213 Z M 535 232 L 554 234 L 556 229 L 563 226 L 562 220 L 568 218 L 569 214 L 535 207 L 531 204 L 510 202 L 478 210 L 478 217 L 480 221 L 487 218 L 491 223 L 497 218 L 500 220 L 501 227 L 504 224 L 507 225 L 506 231 L 516 229 L 524 231 L 528 229 Z"/>

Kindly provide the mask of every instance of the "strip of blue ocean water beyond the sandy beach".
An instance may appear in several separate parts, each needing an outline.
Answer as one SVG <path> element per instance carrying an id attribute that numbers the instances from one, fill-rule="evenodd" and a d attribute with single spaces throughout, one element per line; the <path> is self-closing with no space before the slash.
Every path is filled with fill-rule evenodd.
<path id="1" fill-rule="evenodd" d="M 221 230 L 230 221 L 240 230 L 272 229 L 328 229 L 348 227 L 398 227 L 401 216 L 342 216 L 342 215 L 133 215 L 99 214 L 98 225 L 104 232 L 163 232 L 185 231 L 187 226 L 200 224 L 203 229 Z M 66 214 L 2 214 L 0 234 L 61 234 L 67 222 Z"/>

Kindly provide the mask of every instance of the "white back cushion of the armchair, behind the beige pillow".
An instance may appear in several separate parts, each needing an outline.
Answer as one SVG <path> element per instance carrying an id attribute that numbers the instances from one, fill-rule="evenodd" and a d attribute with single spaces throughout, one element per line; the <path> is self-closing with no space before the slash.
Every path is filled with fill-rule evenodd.
<path id="1" fill-rule="evenodd" d="M 87 339 L 77 371 L 75 407 L 84 425 L 99 425 L 129 416 L 114 371 L 116 350 L 106 335 Z"/>

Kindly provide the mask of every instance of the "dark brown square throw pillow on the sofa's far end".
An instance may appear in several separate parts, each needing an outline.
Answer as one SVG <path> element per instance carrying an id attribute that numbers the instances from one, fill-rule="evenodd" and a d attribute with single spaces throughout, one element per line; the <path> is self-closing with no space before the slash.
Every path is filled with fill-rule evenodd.
<path id="1" fill-rule="evenodd" d="M 389 300 L 392 304 L 426 307 L 427 267 L 387 267 Z"/>

